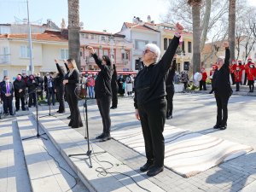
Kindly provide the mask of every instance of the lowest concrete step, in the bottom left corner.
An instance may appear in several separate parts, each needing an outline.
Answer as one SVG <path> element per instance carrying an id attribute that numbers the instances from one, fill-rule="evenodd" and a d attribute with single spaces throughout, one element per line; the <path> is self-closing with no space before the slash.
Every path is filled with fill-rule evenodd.
<path id="1" fill-rule="evenodd" d="M 0 191 L 32 191 L 22 150 L 15 118 L 0 120 Z"/>

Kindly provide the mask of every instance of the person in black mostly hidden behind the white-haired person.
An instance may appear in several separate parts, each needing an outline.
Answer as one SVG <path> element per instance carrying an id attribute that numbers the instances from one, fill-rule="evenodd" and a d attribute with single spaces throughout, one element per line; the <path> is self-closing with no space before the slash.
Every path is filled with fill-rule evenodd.
<path id="1" fill-rule="evenodd" d="M 166 119 L 172 119 L 172 109 L 173 109 L 173 96 L 174 96 L 174 84 L 173 79 L 176 71 L 176 58 L 172 61 L 172 67 L 169 69 L 166 78 L 166 101 L 167 101 L 167 111 Z"/>

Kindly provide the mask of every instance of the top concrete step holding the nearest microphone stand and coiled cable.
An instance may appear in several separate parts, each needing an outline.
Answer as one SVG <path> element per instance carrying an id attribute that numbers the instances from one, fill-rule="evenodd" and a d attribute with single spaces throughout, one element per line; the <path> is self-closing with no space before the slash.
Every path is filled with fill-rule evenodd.
<path id="1" fill-rule="evenodd" d="M 47 115 L 48 111 L 40 111 L 40 114 Z M 163 191 L 159 186 L 143 177 L 140 173 L 126 166 L 116 159 L 112 154 L 104 151 L 96 143 L 90 142 L 92 154 L 85 155 L 88 151 L 87 141 L 79 132 L 71 129 L 63 121 L 53 116 L 44 117 L 39 121 L 52 143 L 55 144 L 67 163 L 77 173 L 84 185 L 90 191 Z M 69 157 L 69 154 L 84 154 L 82 156 Z M 92 167 L 90 167 L 90 160 Z M 105 168 L 104 168 L 105 167 Z M 111 167 L 111 169 L 108 169 Z M 108 174 L 103 171 L 107 170 Z M 106 174 L 104 174 L 106 173 Z M 127 177 L 125 175 L 129 175 Z M 137 182 L 135 183 L 131 177 Z M 140 185 L 142 188 L 137 186 Z"/>

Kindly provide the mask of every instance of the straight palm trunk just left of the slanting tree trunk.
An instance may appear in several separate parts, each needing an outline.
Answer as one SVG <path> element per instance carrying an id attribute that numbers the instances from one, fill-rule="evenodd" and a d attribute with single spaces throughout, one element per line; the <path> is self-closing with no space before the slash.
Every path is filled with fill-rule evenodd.
<path id="1" fill-rule="evenodd" d="M 200 39 L 201 39 L 201 18 L 200 8 L 201 0 L 188 0 L 189 5 L 192 7 L 192 20 L 193 20 L 193 73 L 201 71 L 201 52 L 200 52 Z"/>

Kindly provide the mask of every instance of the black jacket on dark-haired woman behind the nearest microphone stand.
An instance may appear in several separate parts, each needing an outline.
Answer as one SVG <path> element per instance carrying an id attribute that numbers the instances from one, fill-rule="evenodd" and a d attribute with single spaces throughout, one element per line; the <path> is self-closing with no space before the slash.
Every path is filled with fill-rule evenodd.
<path id="1" fill-rule="evenodd" d="M 96 54 L 93 54 L 92 56 L 96 61 L 97 66 L 101 69 L 95 81 L 95 97 L 96 99 L 99 99 L 103 96 L 112 96 L 111 77 L 113 69 L 108 65 L 103 65 L 102 60 L 100 60 Z"/>

